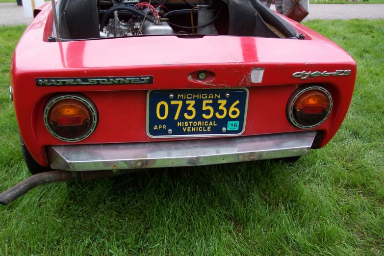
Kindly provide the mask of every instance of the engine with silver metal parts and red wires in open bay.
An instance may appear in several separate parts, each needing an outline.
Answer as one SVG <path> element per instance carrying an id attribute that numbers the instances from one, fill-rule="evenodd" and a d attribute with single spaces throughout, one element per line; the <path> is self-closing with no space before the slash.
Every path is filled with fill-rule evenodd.
<path id="1" fill-rule="evenodd" d="M 168 7 L 161 4 L 162 2 L 168 3 Z M 184 1 L 184 3 L 177 0 L 112 0 L 112 4 L 108 9 L 99 11 L 100 37 L 189 34 L 191 32 L 218 34 L 213 22 L 221 9 L 216 13 L 217 10 L 212 8 L 212 0 Z M 192 8 L 188 9 L 188 5 Z M 174 23 L 170 22 L 170 19 Z"/>

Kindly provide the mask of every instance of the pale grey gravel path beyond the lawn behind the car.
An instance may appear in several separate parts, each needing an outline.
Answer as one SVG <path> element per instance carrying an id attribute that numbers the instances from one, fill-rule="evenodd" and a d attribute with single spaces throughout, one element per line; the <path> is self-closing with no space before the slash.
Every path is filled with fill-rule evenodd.
<path id="1" fill-rule="evenodd" d="M 272 5 L 271 9 L 275 9 Z M 384 4 L 310 4 L 308 20 L 384 19 Z M 23 6 L 16 2 L 0 3 L 0 26 L 29 24 Z"/>

